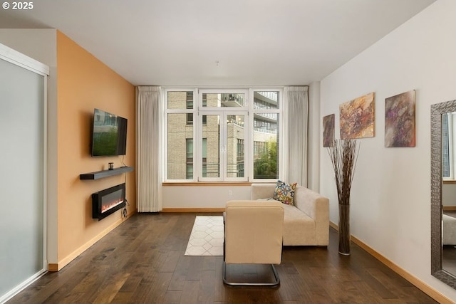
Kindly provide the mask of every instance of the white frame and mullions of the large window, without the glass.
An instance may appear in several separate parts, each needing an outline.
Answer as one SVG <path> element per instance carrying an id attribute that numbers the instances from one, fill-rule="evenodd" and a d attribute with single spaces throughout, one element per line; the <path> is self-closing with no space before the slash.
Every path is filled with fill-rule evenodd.
<path id="1" fill-rule="evenodd" d="M 264 114 L 264 113 L 275 113 L 279 115 L 278 128 L 279 132 L 276 132 L 276 136 L 279 139 L 284 138 L 284 125 L 283 121 L 283 103 L 284 95 L 283 88 L 280 87 L 255 87 L 255 88 L 227 88 L 227 87 L 217 87 L 217 88 L 178 88 L 178 87 L 169 87 L 163 88 L 163 100 L 164 103 L 164 181 L 169 183 L 192 183 L 192 182 L 276 182 L 277 179 L 281 178 L 281 172 L 283 172 L 284 159 L 282 152 L 283 150 L 283 141 L 278 142 L 279 156 L 277 157 L 278 165 L 278 174 L 276 178 L 273 179 L 255 179 L 254 178 L 254 114 Z M 187 109 L 168 109 L 167 108 L 167 96 L 170 92 L 193 92 L 193 108 Z M 278 107 L 276 109 L 268 108 L 254 108 L 254 93 L 255 92 L 278 92 Z M 217 108 L 207 108 L 203 107 L 202 96 L 204 93 L 217 93 L 217 94 L 226 94 L 226 93 L 243 93 L 244 94 L 244 105 L 241 107 L 217 107 Z M 170 179 L 168 177 L 168 114 L 170 113 L 192 113 L 193 114 L 193 178 L 192 179 Z M 186 117 L 187 117 L 186 114 Z M 202 146 L 203 146 L 203 137 L 202 129 L 206 125 L 202 121 L 203 115 L 220 115 L 220 137 L 219 137 L 219 147 L 226 145 L 227 142 L 227 132 L 226 132 L 226 117 L 227 115 L 244 115 L 244 177 L 227 177 L 227 164 L 226 164 L 226 149 L 224 150 L 224 157 L 219 157 L 219 177 L 202 177 L 203 168 L 202 168 Z M 195 123 L 197 122 L 197 123 Z M 222 123 L 224 122 L 224 123 Z M 222 127 L 223 125 L 223 127 Z M 187 150 L 186 150 L 187 153 Z M 222 155 L 220 153 L 219 155 Z M 187 169 L 186 169 L 187 170 Z"/>

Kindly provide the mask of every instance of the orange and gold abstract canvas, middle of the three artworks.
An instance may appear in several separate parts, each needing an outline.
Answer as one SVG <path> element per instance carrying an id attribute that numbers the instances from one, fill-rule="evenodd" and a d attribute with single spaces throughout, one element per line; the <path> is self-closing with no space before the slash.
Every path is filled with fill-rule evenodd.
<path id="1" fill-rule="evenodd" d="M 374 94 L 339 105 L 341 140 L 374 136 Z"/>

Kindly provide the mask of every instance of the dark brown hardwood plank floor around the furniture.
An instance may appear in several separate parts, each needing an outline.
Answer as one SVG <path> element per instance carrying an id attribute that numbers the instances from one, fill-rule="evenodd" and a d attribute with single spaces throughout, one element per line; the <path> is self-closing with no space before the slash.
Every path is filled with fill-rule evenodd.
<path id="1" fill-rule="evenodd" d="M 222 256 L 184 256 L 196 215 L 135 214 L 7 303 L 437 303 L 353 243 L 339 255 L 333 229 L 328 248 L 284 247 L 278 288 L 227 287 Z"/>

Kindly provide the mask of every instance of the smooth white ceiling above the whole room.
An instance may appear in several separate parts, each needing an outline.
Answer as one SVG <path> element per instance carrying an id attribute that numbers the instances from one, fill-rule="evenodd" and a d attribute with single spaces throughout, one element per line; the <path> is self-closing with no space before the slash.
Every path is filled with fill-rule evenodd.
<path id="1" fill-rule="evenodd" d="M 434 1 L 39 0 L 0 28 L 58 28 L 133 85 L 306 85 Z"/>

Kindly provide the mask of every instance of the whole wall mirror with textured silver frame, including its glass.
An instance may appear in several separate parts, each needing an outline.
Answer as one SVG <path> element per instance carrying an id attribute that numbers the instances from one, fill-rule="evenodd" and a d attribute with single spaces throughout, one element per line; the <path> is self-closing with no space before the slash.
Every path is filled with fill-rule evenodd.
<path id="1" fill-rule="evenodd" d="M 456 139 L 456 100 L 431 105 L 431 273 L 456 288 L 456 224 L 452 224 L 456 218 L 448 218 L 452 208 L 444 209 L 442 201 L 454 196 L 455 199 L 449 200 L 456 205 L 456 140 L 453 138 Z M 448 214 L 446 209 L 450 210 Z"/>

